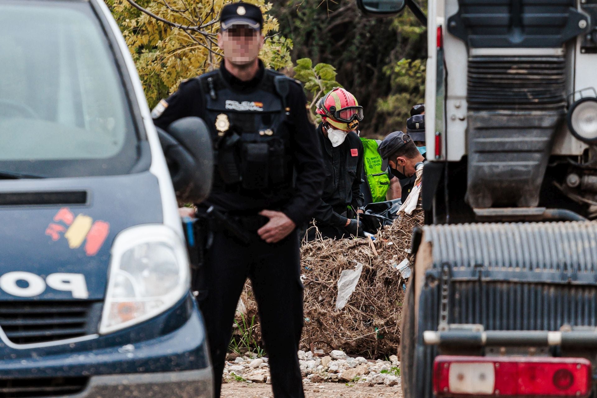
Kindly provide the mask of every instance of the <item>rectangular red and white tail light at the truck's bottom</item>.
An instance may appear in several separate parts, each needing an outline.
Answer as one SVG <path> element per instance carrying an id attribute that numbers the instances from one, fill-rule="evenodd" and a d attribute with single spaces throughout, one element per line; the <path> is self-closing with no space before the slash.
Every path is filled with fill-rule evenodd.
<path id="1" fill-rule="evenodd" d="M 586 397 L 591 364 L 584 358 L 438 356 L 433 391 L 438 397 Z"/>

